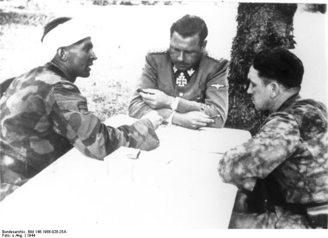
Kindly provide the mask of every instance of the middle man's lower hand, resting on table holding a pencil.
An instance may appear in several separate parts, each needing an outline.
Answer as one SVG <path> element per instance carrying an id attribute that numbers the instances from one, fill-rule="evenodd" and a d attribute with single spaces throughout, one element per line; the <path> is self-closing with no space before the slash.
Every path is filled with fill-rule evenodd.
<path id="1" fill-rule="evenodd" d="M 202 126 L 207 126 L 208 123 L 213 123 L 213 119 L 209 119 L 209 116 L 198 112 L 192 111 L 188 113 L 176 113 L 173 117 L 172 123 L 190 129 L 198 129 Z"/>

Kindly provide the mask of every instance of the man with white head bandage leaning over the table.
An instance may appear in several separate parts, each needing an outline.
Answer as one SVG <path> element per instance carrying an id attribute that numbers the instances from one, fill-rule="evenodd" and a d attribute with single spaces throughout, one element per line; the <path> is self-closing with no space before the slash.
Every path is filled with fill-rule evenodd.
<path id="1" fill-rule="evenodd" d="M 157 113 L 113 128 L 88 111 L 74 84 L 76 77 L 90 76 L 97 59 L 85 25 L 68 17 L 54 19 L 42 41 L 54 58 L 16 77 L 0 99 L 1 200 L 72 146 L 102 160 L 120 146 L 151 150 L 159 145 L 154 130 L 162 118 Z"/>

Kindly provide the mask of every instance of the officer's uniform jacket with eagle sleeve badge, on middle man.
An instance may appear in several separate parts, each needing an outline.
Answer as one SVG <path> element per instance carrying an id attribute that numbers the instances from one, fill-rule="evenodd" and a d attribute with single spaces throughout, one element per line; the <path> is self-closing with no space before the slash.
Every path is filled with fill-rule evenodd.
<path id="1" fill-rule="evenodd" d="M 228 80 L 227 80 L 228 60 L 215 59 L 204 53 L 199 61 L 195 72 L 189 82 L 177 82 L 174 76 L 173 64 L 168 50 L 152 51 L 146 56 L 145 67 L 141 77 L 136 83 L 136 88 L 132 92 L 129 115 L 140 118 L 149 111 L 151 107 L 142 100 L 139 89 L 157 89 L 169 96 L 180 97 L 190 101 L 199 102 L 206 106 L 204 113 L 209 116 L 220 115 L 215 122 L 209 124 L 212 127 L 222 127 L 228 113 Z M 171 114 L 171 109 L 156 110 L 163 119 L 167 119 Z M 181 103 L 178 104 L 177 112 L 189 112 Z"/>

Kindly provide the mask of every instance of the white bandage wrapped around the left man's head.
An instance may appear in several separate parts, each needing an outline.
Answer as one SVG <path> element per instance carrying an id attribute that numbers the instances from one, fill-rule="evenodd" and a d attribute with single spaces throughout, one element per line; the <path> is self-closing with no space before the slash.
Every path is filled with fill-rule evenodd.
<path id="1" fill-rule="evenodd" d="M 73 45 L 77 41 L 91 37 L 86 22 L 80 18 L 72 18 L 59 24 L 43 38 L 44 50 L 54 55 L 60 47 Z"/>

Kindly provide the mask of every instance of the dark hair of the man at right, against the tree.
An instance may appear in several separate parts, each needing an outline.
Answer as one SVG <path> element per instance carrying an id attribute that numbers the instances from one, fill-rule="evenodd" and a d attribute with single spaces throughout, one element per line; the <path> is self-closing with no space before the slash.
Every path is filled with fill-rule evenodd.
<path id="1" fill-rule="evenodd" d="M 253 67 L 259 72 L 259 77 L 276 80 L 288 89 L 298 87 L 302 83 L 304 74 L 302 61 L 282 48 L 264 49 L 258 52 L 253 60 Z M 266 81 L 264 80 L 264 83 Z"/>

